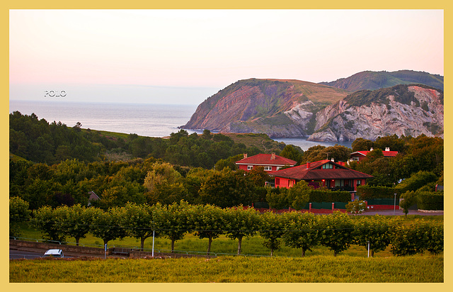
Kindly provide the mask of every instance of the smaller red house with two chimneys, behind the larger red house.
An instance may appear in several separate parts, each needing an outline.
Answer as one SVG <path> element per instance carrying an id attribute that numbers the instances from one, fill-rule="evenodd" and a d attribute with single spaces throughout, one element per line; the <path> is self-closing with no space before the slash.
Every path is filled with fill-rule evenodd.
<path id="1" fill-rule="evenodd" d="M 275 153 L 258 154 L 251 157 L 247 157 L 247 154 L 244 153 L 243 159 L 236 162 L 239 169 L 243 169 L 246 172 L 252 170 L 254 167 L 264 167 L 266 172 L 275 172 L 287 165 L 294 167 L 296 164 L 296 161 L 275 155 Z"/>

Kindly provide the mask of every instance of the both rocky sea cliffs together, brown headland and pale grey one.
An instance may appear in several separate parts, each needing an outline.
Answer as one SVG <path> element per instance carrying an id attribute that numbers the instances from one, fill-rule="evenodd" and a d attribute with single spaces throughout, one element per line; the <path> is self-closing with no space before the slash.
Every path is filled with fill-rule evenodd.
<path id="1" fill-rule="evenodd" d="M 356 91 L 298 80 L 241 80 L 198 106 L 180 128 L 347 141 L 385 135 L 443 137 L 443 92 L 425 85 Z"/>

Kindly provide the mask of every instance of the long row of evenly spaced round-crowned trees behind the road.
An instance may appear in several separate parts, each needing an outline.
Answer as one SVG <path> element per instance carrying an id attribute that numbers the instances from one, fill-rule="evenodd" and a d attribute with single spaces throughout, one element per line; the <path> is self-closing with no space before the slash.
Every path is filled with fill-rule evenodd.
<path id="1" fill-rule="evenodd" d="M 418 220 L 411 225 L 403 225 L 401 218 L 379 215 L 350 217 L 339 212 L 332 215 L 299 212 L 260 214 L 253 208 L 242 206 L 224 209 L 181 201 L 153 206 L 127 203 L 108 210 L 80 205 L 53 209 L 42 207 L 33 211 L 33 218 L 30 218 L 27 204 L 21 198 L 10 199 L 10 227 L 21 221 L 30 221 L 47 240 L 64 242 L 66 237 L 74 237 L 77 244 L 91 233 L 101 238 L 104 245 L 110 240 L 134 237 L 140 240 L 143 249 L 144 240 L 154 233 L 156 237 L 171 240 L 173 252 L 177 240 L 193 233 L 200 239 L 208 239 L 208 253 L 212 240 L 226 235 L 238 240 L 238 254 L 241 254 L 243 237 L 256 234 L 263 237 L 263 245 L 270 249 L 271 255 L 280 249 L 282 243 L 302 249 L 302 257 L 307 250 L 319 245 L 328 247 L 334 255 L 345 251 L 350 245 L 365 249 L 369 245 L 371 256 L 389 245 L 391 252 L 397 256 L 427 251 L 437 254 L 444 248 L 443 224 Z M 22 213 L 19 213 L 20 210 Z M 10 230 L 17 229 L 13 227 Z"/>

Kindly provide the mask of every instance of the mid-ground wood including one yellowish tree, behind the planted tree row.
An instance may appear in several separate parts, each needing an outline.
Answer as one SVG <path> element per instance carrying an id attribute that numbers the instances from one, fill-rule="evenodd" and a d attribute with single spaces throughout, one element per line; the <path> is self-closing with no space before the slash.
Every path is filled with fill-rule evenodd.
<path id="1" fill-rule="evenodd" d="M 251 172 L 202 167 L 181 167 L 159 159 L 127 162 L 90 162 L 68 159 L 49 166 L 24 159 L 10 159 L 9 196 L 42 206 L 73 206 L 81 203 L 108 209 L 133 203 L 212 203 L 222 208 L 265 201 L 263 168 Z M 88 202 L 93 191 L 101 198 Z"/>

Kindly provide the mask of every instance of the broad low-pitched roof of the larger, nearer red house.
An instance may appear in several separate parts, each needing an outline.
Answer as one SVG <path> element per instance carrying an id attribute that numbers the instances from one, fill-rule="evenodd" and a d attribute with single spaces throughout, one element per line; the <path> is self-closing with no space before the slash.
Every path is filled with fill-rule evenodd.
<path id="1" fill-rule="evenodd" d="M 322 165 L 326 163 L 333 164 L 335 169 L 322 169 Z M 342 165 L 325 159 L 317 162 L 311 162 L 309 168 L 307 164 L 299 167 L 291 167 L 288 169 L 277 170 L 270 172 L 272 176 L 284 177 L 287 179 L 309 180 L 309 179 L 371 179 L 373 176 L 357 172 Z"/>

